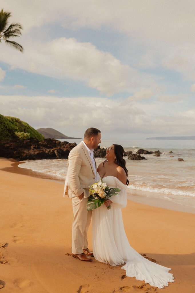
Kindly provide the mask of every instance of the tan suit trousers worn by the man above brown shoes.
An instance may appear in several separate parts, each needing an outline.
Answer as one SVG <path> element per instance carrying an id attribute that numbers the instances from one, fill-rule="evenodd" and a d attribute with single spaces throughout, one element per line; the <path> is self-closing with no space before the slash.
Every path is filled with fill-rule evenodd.
<path id="1" fill-rule="evenodd" d="M 91 222 L 92 211 L 87 211 L 88 198 L 72 197 L 73 224 L 72 224 L 72 253 L 83 253 L 88 248 L 87 231 Z"/>

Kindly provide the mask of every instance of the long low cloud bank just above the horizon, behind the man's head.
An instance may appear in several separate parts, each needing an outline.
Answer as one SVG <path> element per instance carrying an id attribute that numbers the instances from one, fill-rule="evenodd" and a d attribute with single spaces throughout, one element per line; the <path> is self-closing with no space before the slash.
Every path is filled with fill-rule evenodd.
<path id="1" fill-rule="evenodd" d="M 0 96 L 1 114 L 18 117 L 33 127 L 52 127 L 80 137 L 86 128 L 97 127 L 104 136 L 126 133 L 144 135 L 193 135 L 195 109 L 175 111 L 161 102 L 144 105 L 123 99 L 99 97 Z M 181 107 L 182 108 L 182 107 Z M 67 131 L 66 131 L 67 133 Z"/>

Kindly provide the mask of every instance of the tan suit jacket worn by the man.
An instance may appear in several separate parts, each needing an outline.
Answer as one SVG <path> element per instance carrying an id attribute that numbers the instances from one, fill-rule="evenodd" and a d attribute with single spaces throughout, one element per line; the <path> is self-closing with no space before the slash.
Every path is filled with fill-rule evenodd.
<path id="1" fill-rule="evenodd" d="M 84 198 L 89 197 L 88 189 L 94 182 L 95 172 L 91 158 L 83 142 L 80 142 L 69 153 L 64 196 L 78 197 L 84 193 Z"/>

